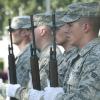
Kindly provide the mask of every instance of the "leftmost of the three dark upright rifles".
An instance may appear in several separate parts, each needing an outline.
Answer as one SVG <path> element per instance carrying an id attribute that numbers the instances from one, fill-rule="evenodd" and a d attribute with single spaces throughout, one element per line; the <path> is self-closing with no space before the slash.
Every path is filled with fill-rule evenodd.
<path id="1" fill-rule="evenodd" d="M 14 56 L 14 53 L 13 53 L 13 44 L 12 44 L 11 19 L 9 19 L 9 32 L 10 32 L 10 40 L 11 40 L 11 44 L 8 45 L 9 79 L 10 79 L 11 84 L 17 84 L 15 56 Z M 10 100 L 17 100 L 17 99 L 11 97 Z"/>

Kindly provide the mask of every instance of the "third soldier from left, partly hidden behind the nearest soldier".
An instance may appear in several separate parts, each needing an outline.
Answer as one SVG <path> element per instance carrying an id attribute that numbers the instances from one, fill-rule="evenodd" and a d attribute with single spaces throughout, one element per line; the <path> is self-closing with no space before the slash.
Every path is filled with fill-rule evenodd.
<path id="1" fill-rule="evenodd" d="M 56 17 L 57 18 L 57 17 Z M 59 24 L 59 23 L 62 24 Z M 64 25 L 64 22 L 57 19 L 56 22 L 57 30 L 56 30 L 56 43 L 64 48 L 63 56 L 59 57 L 58 64 L 58 78 L 59 78 L 59 86 L 63 86 L 64 75 L 69 68 L 67 65 L 68 60 L 77 55 L 78 48 L 72 46 L 68 40 L 68 31 L 70 26 L 68 24 Z"/>

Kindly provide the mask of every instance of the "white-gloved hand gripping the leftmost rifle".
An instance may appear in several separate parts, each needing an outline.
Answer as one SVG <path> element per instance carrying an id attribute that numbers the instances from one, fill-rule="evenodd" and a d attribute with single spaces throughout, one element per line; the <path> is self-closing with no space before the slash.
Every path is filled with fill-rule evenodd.
<path id="1" fill-rule="evenodd" d="M 15 97 L 17 89 L 19 89 L 20 87 L 21 87 L 20 84 L 7 84 L 6 96 Z"/>

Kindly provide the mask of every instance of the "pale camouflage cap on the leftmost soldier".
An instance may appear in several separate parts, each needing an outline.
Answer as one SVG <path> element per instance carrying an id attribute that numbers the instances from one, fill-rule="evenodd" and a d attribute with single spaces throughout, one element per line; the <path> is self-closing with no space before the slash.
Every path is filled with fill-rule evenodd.
<path id="1" fill-rule="evenodd" d="M 30 28 L 30 27 L 31 27 L 30 16 L 16 16 L 11 21 L 12 29 Z"/>

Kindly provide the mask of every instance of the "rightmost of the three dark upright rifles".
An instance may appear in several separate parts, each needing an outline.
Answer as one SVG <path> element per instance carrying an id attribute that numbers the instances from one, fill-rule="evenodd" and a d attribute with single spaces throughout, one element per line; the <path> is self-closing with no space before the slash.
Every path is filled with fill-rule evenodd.
<path id="1" fill-rule="evenodd" d="M 52 24 L 53 24 L 53 48 L 50 48 L 50 61 L 49 61 L 49 77 L 50 86 L 58 86 L 58 71 L 57 71 L 57 59 L 56 59 L 56 24 L 55 24 L 55 12 L 52 13 Z"/>

